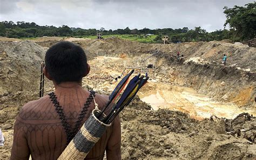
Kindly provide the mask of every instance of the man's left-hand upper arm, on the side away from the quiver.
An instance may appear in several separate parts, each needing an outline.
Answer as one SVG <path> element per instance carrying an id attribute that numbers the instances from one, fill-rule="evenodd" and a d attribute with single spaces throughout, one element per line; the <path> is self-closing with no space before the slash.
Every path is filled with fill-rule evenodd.
<path id="1" fill-rule="evenodd" d="M 29 159 L 30 150 L 25 135 L 26 129 L 25 124 L 17 118 L 14 126 L 14 143 L 12 144 L 10 159 Z"/>

